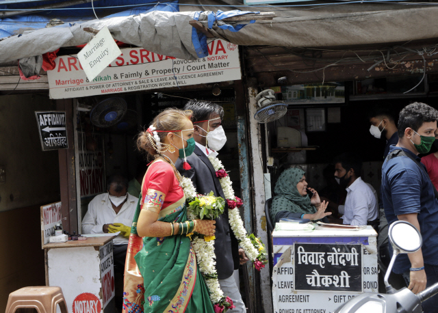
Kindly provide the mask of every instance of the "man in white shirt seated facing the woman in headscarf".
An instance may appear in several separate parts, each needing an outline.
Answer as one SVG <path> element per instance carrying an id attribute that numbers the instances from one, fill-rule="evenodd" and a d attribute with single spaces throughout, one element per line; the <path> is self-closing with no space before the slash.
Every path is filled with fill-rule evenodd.
<path id="1" fill-rule="evenodd" d="M 378 223 L 378 201 L 375 191 L 362 180 L 361 169 L 362 162 L 355 154 L 344 153 L 335 158 L 335 178 L 347 191 L 345 205 L 338 210 L 344 215 L 344 224 L 374 227 Z"/>

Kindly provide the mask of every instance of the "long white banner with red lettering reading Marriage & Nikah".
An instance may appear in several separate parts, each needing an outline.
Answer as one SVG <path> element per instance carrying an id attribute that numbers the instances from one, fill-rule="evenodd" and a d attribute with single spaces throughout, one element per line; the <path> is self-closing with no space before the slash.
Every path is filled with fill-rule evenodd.
<path id="1" fill-rule="evenodd" d="M 237 45 L 219 39 L 208 44 L 208 57 L 194 61 L 166 57 L 141 48 L 121 51 L 122 54 L 92 81 L 87 79 L 75 55 L 57 57 L 55 69 L 47 71 L 50 98 L 75 98 L 241 79 Z"/>

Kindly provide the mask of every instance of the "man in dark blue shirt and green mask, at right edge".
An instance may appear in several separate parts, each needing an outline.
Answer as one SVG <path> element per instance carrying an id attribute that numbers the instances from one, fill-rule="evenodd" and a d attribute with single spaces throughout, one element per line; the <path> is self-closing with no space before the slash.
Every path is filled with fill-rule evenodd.
<path id="1" fill-rule="evenodd" d="M 391 146 L 382 167 L 382 198 L 389 225 L 409 221 L 420 230 L 423 247 L 398 256 L 394 273 L 403 274 L 415 294 L 438 282 L 438 201 L 424 165 L 417 157 L 435 141 L 438 111 L 424 103 L 404 107 L 398 120 L 398 144 Z M 405 155 L 398 155 L 400 151 Z M 407 157 L 410 155 L 413 159 Z M 417 164 L 418 163 L 418 164 Z M 438 297 L 423 303 L 424 312 L 436 312 Z"/>

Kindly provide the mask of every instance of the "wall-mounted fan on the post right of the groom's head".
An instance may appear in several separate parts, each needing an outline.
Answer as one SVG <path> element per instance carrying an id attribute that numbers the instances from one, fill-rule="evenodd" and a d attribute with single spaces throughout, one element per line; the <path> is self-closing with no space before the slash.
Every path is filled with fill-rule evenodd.
<path id="1" fill-rule="evenodd" d="M 275 100 L 275 92 L 272 89 L 263 90 L 255 97 L 260 109 L 254 115 L 259 123 L 268 123 L 278 120 L 287 112 L 287 105 L 283 101 Z"/>

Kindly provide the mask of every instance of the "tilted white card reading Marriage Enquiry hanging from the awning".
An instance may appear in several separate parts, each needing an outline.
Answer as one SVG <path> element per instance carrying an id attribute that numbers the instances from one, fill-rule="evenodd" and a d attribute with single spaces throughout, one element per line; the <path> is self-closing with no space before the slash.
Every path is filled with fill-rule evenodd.
<path id="1" fill-rule="evenodd" d="M 105 26 L 79 51 L 77 58 L 88 79 L 92 81 L 121 54 L 110 30 Z"/>

